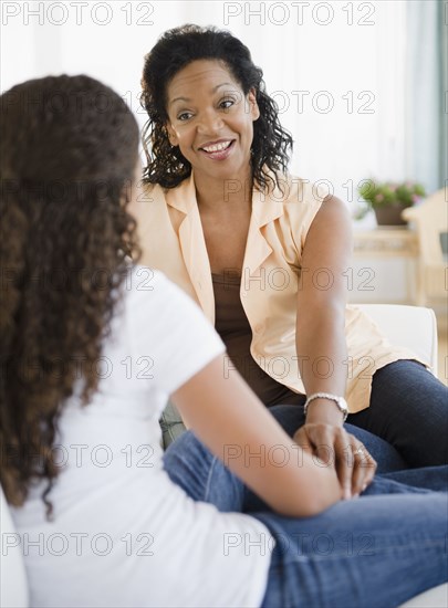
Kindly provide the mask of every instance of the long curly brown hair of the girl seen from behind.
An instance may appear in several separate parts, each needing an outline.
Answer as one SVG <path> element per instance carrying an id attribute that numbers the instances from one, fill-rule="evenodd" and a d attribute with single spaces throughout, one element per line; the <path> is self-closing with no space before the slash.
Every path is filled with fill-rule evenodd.
<path id="1" fill-rule="evenodd" d="M 28 81 L 0 102 L 0 481 L 20 506 L 46 480 L 51 516 L 61 408 L 80 376 L 84 405 L 95 391 L 139 255 L 125 209 L 139 134 L 123 99 L 85 75 Z"/>

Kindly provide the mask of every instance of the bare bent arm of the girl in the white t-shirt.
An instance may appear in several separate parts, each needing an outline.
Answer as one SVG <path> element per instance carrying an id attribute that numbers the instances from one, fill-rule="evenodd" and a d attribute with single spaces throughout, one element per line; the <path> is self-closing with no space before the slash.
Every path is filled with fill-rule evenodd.
<path id="1" fill-rule="evenodd" d="M 241 377 L 213 359 L 173 396 L 201 441 L 274 511 L 311 516 L 341 499 L 332 467 L 301 450 Z"/>

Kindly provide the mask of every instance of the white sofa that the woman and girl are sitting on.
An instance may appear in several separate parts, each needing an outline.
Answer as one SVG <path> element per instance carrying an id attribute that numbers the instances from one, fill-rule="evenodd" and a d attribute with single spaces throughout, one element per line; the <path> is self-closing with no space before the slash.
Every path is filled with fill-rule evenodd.
<path id="1" fill-rule="evenodd" d="M 413 349 L 431 364 L 433 373 L 437 374 L 437 327 L 430 308 L 392 304 L 363 304 L 361 307 L 393 344 Z M 1 489 L 0 532 L 0 608 L 27 608 L 29 596 L 20 538 Z M 448 608 L 448 584 L 429 589 L 399 608 Z"/>

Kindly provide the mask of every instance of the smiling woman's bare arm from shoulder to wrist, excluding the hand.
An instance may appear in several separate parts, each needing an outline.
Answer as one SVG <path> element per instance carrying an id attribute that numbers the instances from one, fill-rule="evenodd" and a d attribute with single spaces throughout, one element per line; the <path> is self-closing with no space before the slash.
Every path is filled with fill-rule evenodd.
<path id="1" fill-rule="evenodd" d="M 296 349 L 306 394 L 344 396 L 346 381 L 345 277 L 352 254 L 352 230 L 344 203 L 324 200 L 310 227 L 302 254 L 298 293 Z M 332 402 L 312 402 L 310 420 L 341 424 Z"/>

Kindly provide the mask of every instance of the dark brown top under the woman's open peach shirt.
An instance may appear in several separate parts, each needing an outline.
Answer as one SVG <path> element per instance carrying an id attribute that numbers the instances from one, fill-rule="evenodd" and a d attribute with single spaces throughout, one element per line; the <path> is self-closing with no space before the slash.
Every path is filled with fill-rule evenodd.
<path id="1" fill-rule="evenodd" d="M 215 292 L 215 328 L 226 344 L 231 361 L 225 373 L 236 367 L 261 401 L 270 407 L 302 403 L 303 395 L 290 390 L 267 374 L 250 354 L 252 331 L 240 298 L 241 275 L 232 271 L 211 274 Z"/>

